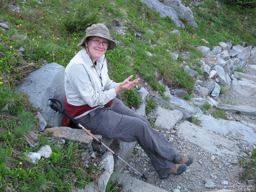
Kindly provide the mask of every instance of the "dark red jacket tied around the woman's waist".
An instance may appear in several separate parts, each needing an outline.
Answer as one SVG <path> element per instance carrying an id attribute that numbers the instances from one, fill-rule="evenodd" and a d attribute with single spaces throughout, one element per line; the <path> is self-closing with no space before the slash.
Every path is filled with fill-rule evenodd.
<path id="1" fill-rule="evenodd" d="M 113 100 L 110 100 L 104 106 L 110 107 L 112 105 L 112 103 L 113 103 Z M 71 105 L 71 104 L 68 103 L 67 97 L 65 96 L 65 111 L 72 117 L 82 115 L 86 111 L 90 111 L 90 110 L 92 110 L 96 107 L 98 107 L 98 106 L 90 107 L 89 105 L 82 105 L 82 106 Z M 66 116 L 63 116 L 62 126 L 67 127 L 69 123 L 70 123 L 70 119 Z"/>

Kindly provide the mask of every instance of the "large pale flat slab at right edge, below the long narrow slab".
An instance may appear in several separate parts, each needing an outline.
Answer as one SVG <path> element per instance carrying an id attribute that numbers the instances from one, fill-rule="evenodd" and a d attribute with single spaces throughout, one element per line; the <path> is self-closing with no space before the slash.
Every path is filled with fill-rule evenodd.
<path id="1" fill-rule="evenodd" d="M 212 116 L 202 115 L 200 118 L 201 126 L 207 131 L 214 132 L 220 136 L 231 134 L 236 140 L 247 142 L 251 145 L 256 143 L 256 133 L 251 127 L 245 126 L 240 122 L 215 119 Z"/>

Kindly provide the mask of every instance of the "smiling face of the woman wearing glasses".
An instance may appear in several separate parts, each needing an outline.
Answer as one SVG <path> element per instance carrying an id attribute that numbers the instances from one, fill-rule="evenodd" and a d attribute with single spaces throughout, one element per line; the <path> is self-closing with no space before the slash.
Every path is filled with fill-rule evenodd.
<path id="1" fill-rule="evenodd" d="M 84 42 L 85 48 L 89 56 L 91 56 L 93 63 L 100 58 L 108 49 L 108 46 L 104 46 L 102 43 L 95 44 L 92 40 L 98 40 L 100 42 L 108 43 L 108 40 L 102 37 L 88 37 Z"/>

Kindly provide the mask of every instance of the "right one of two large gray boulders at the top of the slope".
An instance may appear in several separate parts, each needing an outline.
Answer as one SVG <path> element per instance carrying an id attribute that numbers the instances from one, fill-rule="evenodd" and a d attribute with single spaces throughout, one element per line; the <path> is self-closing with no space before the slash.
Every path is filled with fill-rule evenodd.
<path id="1" fill-rule="evenodd" d="M 165 0 L 163 4 L 172 7 L 178 13 L 178 16 L 187 21 L 188 25 L 198 28 L 191 9 L 185 7 L 180 0 Z"/>

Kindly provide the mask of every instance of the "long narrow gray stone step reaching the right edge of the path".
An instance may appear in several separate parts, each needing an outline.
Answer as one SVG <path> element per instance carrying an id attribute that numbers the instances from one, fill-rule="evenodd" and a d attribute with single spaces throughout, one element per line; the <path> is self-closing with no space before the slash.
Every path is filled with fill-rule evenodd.
<path id="1" fill-rule="evenodd" d="M 236 112 L 240 111 L 241 114 L 243 114 L 243 115 L 256 116 L 256 108 L 255 107 L 250 107 L 250 106 L 245 106 L 245 105 L 235 106 L 235 105 L 228 105 L 228 104 L 218 104 L 217 107 L 220 109 L 223 109 L 224 111 L 229 111 L 231 113 L 236 113 Z"/>

